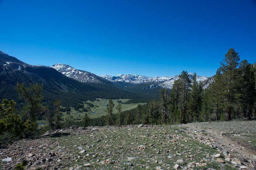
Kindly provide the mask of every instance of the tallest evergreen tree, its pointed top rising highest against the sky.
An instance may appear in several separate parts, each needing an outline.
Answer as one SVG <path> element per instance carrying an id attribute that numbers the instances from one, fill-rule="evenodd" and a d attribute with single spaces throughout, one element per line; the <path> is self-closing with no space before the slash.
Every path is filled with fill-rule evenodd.
<path id="1" fill-rule="evenodd" d="M 223 97 L 227 111 L 227 120 L 231 120 L 232 104 L 236 94 L 237 85 L 237 72 L 236 67 L 240 60 L 238 52 L 234 49 L 229 49 L 228 53 L 223 59 L 223 63 L 220 62 L 220 71 L 223 76 Z"/>

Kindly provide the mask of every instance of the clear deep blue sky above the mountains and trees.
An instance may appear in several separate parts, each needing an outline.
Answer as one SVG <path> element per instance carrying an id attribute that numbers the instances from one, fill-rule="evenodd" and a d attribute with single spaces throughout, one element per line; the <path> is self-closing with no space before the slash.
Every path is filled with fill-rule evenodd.
<path id="1" fill-rule="evenodd" d="M 255 0 L 0 0 L 0 50 L 97 75 L 212 76 L 229 48 L 256 61 Z"/>

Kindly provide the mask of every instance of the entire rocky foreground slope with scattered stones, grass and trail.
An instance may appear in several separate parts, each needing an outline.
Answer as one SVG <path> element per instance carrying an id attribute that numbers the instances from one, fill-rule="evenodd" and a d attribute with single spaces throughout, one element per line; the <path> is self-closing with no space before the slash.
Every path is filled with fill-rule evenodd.
<path id="1" fill-rule="evenodd" d="M 71 127 L 0 148 L 0 169 L 255 169 L 256 121 Z"/>

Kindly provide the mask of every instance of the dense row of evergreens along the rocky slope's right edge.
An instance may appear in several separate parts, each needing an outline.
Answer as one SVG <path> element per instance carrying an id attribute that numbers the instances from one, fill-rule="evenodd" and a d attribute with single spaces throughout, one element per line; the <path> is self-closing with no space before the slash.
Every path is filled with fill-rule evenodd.
<path id="1" fill-rule="evenodd" d="M 196 80 L 196 73 L 190 80 L 188 72 L 182 71 L 170 93 L 161 89 L 160 100 L 122 112 L 121 124 L 251 119 L 256 115 L 256 64 L 239 60 L 238 53 L 229 49 L 206 89 Z M 92 119 L 90 125 L 104 126 L 108 124 L 105 119 L 104 116 Z M 117 118 L 113 115 L 112 119 L 116 122 Z"/>

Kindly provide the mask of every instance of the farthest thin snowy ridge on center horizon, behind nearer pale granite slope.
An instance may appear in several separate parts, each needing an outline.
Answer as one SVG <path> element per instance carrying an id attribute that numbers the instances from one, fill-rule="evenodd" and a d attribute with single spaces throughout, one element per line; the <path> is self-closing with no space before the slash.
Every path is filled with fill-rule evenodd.
<path id="1" fill-rule="evenodd" d="M 117 76 L 110 76 L 110 75 L 100 75 L 100 77 L 107 79 L 108 81 L 123 81 L 132 84 L 139 84 L 145 82 L 159 82 L 159 81 L 166 81 L 170 80 L 172 77 L 147 77 L 141 76 L 136 74 L 118 74 Z"/>

